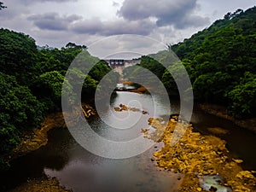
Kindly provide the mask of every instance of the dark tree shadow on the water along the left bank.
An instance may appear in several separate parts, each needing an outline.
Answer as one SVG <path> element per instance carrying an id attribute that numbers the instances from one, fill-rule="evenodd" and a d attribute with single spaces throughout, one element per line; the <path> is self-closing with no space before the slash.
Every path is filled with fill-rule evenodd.
<path id="1" fill-rule="evenodd" d="M 58 138 L 51 137 L 57 134 Z M 67 138 L 67 139 L 62 139 Z M 13 189 L 15 186 L 25 183 L 30 178 L 45 177 L 44 167 L 61 170 L 68 162 L 67 146 L 72 137 L 67 130 L 56 129 L 49 131 L 49 143 L 46 146 L 13 160 L 8 172 L 1 172 L 0 191 Z"/>

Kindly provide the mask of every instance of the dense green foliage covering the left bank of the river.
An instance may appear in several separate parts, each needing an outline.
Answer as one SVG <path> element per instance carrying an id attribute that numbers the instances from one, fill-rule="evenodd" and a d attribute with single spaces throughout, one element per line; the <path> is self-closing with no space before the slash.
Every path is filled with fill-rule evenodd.
<path id="1" fill-rule="evenodd" d="M 38 127 L 47 113 L 61 110 L 64 76 L 81 51 L 88 55 L 85 61 L 99 61 L 89 55 L 84 45 L 68 43 L 61 49 L 37 49 L 29 36 L 0 29 L 0 168 L 6 166 L 5 155 L 26 131 Z M 84 61 L 82 64 L 86 66 Z M 74 70 L 84 80 L 82 97 L 90 98 L 110 71 L 105 61 L 96 63 L 88 75 Z M 114 77 L 118 78 L 116 74 Z"/>

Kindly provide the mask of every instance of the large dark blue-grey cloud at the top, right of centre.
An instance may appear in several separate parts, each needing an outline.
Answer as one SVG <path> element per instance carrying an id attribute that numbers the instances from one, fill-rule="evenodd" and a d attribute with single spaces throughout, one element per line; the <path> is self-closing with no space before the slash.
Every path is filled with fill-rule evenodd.
<path id="1" fill-rule="evenodd" d="M 197 0 L 125 0 L 118 15 L 126 20 L 155 18 L 157 26 L 183 29 L 209 22 L 208 18 L 194 15 L 197 6 Z"/>

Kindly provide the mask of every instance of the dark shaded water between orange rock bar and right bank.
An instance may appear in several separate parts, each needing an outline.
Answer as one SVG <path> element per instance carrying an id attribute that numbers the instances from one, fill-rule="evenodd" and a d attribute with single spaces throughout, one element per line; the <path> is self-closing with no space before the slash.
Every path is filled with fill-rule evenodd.
<path id="1" fill-rule="evenodd" d="M 203 112 L 199 108 L 194 108 L 191 123 L 195 127 L 195 131 L 201 132 L 203 135 L 215 135 L 224 139 L 227 148 L 235 159 L 244 160 L 241 166 L 245 170 L 256 170 L 256 134 L 247 131 L 230 120 L 218 118 L 212 114 Z M 213 134 L 207 128 L 218 127 L 228 131 L 226 134 Z"/>

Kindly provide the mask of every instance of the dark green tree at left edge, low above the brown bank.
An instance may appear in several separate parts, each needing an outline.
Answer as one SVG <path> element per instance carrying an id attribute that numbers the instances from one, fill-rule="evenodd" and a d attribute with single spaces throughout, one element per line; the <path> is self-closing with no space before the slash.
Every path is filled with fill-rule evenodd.
<path id="1" fill-rule="evenodd" d="M 0 167 L 4 155 L 20 143 L 20 136 L 37 127 L 43 119 L 42 104 L 14 76 L 0 73 Z"/>

